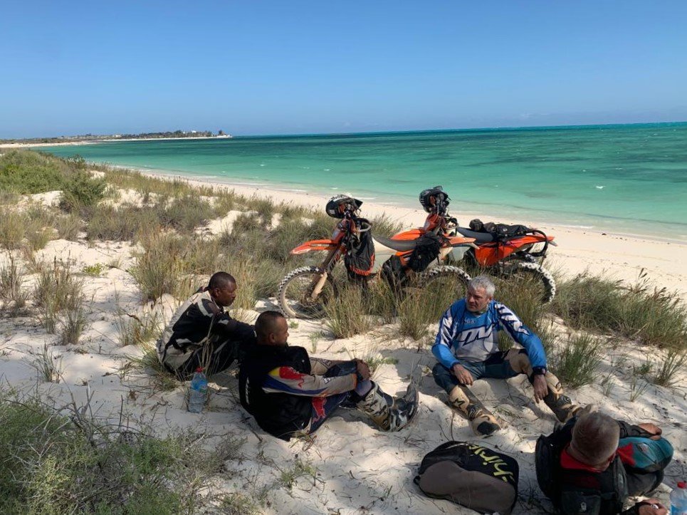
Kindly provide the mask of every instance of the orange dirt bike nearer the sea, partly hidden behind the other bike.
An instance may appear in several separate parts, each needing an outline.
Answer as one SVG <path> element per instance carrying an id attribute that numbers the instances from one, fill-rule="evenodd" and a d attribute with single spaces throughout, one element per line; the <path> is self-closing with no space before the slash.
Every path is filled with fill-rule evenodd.
<path id="1" fill-rule="evenodd" d="M 417 238 L 426 232 L 474 238 L 476 246 L 466 248 L 462 256 L 449 256 L 449 262 L 458 257 L 458 262 L 469 269 L 483 269 L 498 279 L 527 281 L 529 288 L 537 289 L 543 303 L 553 300 L 556 283 L 542 266 L 549 245 L 556 245 L 553 236 L 522 225 L 483 224 L 479 220 L 471 222 L 471 229 L 458 227 L 458 221 L 449 215 L 450 199 L 441 186 L 425 189 L 419 200 L 428 213 L 424 227 L 400 232 L 393 239 Z"/>

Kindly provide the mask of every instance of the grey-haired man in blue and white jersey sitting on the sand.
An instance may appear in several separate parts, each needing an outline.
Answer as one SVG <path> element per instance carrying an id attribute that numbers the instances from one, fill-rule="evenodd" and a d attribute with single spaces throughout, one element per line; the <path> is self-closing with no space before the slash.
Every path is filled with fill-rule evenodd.
<path id="1" fill-rule="evenodd" d="M 454 302 L 439 322 L 432 353 L 439 360 L 432 373 L 449 394 L 449 404 L 461 412 L 477 435 L 499 429 L 496 417 L 468 389 L 481 378 L 508 379 L 527 374 L 535 401 L 543 400 L 565 422 L 578 409 L 563 395 L 558 378 L 547 370 L 542 341 L 513 311 L 494 300 L 491 279 L 478 276 L 468 283 L 465 298 Z M 498 331 L 505 330 L 523 348 L 498 349 Z"/>

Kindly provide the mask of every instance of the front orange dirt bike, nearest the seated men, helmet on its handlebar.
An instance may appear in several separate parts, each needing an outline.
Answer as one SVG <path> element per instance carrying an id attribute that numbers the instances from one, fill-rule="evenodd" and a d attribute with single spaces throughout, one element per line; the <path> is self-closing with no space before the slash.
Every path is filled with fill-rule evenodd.
<path id="1" fill-rule="evenodd" d="M 325 259 L 317 266 L 301 266 L 290 271 L 281 280 L 278 288 L 280 308 L 286 316 L 296 318 L 321 318 L 325 305 L 337 294 L 340 279 L 335 279 L 335 266 L 345 261 L 350 282 L 367 284 L 368 279 L 384 276 L 394 281 L 395 291 L 408 286 L 410 277 L 418 279 L 414 284 L 422 288 L 436 288 L 437 291 L 455 290 L 454 298 L 465 292 L 470 276 L 458 266 L 439 265 L 437 261 L 463 246 L 473 245 L 474 239 L 464 236 L 440 236 L 438 254 L 428 256 L 426 246 L 419 239 L 389 239 L 372 235 L 372 224 L 357 217 L 362 202 L 346 195 L 337 195 L 327 202 L 327 214 L 340 219 L 331 239 L 306 241 L 295 247 L 291 254 L 325 252 Z M 436 241 L 434 241 L 436 244 Z M 394 274 L 390 266 L 393 261 L 397 269 Z M 385 273 L 385 271 L 387 273 Z M 339 274 L 339 276 L 342 274 Z"/>

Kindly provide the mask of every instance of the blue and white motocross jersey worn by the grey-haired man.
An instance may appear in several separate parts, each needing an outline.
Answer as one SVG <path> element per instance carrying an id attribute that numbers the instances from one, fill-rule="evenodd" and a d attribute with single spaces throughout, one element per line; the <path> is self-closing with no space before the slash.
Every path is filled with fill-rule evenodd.
<path id="1" fill-rule="evenodd" d="M 542 340 L 510 308 L 496 301 L 481 314 L 468 311 L 464 298 L 454 302 L 441 317 L 431 351 L 449 369 L 456 363 L 485 361 L 498 353 L 498 331 L 503 329 L 525 348 L 533 368 L 546 368 Z"/>

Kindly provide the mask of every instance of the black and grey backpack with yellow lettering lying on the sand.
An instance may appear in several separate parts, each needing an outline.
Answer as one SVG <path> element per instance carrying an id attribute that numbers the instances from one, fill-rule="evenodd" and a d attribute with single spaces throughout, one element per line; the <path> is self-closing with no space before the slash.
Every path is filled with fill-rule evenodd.
<path id="1" fill-rule="evenodd" d="M 435 499 L 483 514 L 510 515 L 518 499 L 518 462 L 478 444 L 446 442 L 422 459 L 414 482 Z"/>

